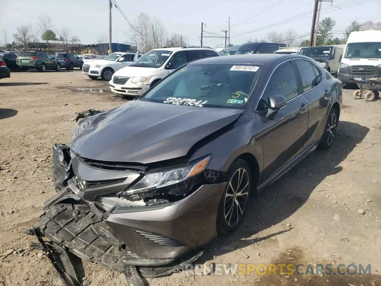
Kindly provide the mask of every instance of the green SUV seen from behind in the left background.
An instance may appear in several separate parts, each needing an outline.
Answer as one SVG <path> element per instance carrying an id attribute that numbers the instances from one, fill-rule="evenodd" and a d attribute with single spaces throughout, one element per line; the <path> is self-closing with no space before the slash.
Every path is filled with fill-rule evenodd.
<path id="1" fill-rule="evenodd" d="M 23 71 L 27 69 L 37 69 L 41 72 L 48 69 L 61 70 L 61 64 L 58 60 L 43 51 L 22 51 L 16 61 Z"/>

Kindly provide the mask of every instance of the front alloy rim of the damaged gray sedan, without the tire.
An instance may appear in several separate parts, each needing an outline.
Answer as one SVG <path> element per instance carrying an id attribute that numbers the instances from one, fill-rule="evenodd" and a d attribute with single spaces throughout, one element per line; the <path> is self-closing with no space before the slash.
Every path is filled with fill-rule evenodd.
<path id="1" fill-rule="evenodd" d="M 232 175 L 227 186 L 224 201 L 225 222 L 229 227 L 239 223 L 248 201 L 249 176 L 244 168 L 239 168 Z"/>

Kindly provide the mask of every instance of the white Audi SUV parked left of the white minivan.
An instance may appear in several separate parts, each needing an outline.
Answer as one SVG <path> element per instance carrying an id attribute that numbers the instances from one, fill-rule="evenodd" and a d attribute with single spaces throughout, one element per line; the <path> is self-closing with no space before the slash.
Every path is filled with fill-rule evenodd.
<path id="1" fill-rule="evenodd" d="M 132 64 L 138 57 L 139 51 L 136 53 L 111 53 L 103 59 L 93 59 L 83 64 L 82 73 L 90 77 L 90 79 L 101 77 L 103 80 L 109 81 L 114 72 Z"/>

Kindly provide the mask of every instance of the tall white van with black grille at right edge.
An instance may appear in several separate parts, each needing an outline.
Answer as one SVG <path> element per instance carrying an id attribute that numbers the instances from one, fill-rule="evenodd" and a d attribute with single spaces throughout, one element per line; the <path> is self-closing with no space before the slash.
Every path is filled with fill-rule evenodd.
<path id="1" fill-rule="evenodd" d="M 354 84 L 356 77 L 381 77 L 381 31 L 352 32 L 337 74 L 343 84 Z"/>

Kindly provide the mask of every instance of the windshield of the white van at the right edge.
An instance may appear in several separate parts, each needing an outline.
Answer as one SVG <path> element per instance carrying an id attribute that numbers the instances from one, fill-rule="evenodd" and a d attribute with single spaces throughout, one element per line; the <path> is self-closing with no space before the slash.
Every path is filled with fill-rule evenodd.
<path id="1" fill-rule="evenodd" d="M 380 59 L 381 42 L 349 43 L 345 51 L 349 59 Z"/>

